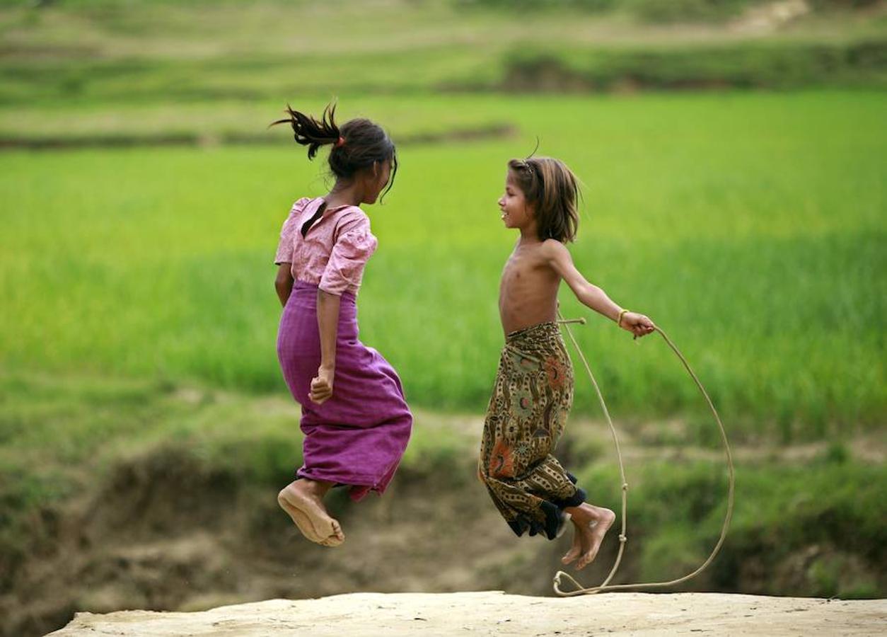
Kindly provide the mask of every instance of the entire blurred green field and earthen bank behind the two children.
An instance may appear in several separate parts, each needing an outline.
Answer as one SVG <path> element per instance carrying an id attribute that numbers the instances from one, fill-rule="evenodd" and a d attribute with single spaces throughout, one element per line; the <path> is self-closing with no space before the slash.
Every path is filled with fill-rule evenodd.
<path id="1" fill-rule="evenodd" d="M 584 183 L 580 270 L 663 326 L 739 445 L 733 534 L 690 586 L 883 596 L 885 51 L 884 4 L 849 0 L 0 3 L 4 630 L 271 595 L 546 593 L 565 547 L 509 537 L 472 477 L 514 242 L 496 200 L 537 138 Z M 271 260 L 292 201 L 331 181 L 266 128 L 332 98 L 398 143 L 367 209 L 361 337 L 418 410 L 396 491 L 334 503 L 357 527 L 338 556 L 274 510 L 300 434 Z M 576 333 L 638 484 L 624 580 L 691 570 L 726 483 L 702 400 L 663 342 L 561 303 L 589 318 Z M 561 452 L 616 506 L 577 381 Z M 474 522 L 454 544 L 457 515 Z"/>

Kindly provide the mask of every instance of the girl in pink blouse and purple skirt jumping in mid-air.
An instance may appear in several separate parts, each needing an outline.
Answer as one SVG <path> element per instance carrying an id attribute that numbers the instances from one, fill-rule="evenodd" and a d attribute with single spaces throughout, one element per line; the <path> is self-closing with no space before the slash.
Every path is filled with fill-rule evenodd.
<path id="1" fill-rule="evenodd" d="M 296 143 L 313 159 L 331 145 L 335 177 L 324 197 L 296 201 L 280 232 L 275 287 L 284 306 L 278 358 L 287 386 L 302 405 L 302 468 L 278 502 L 306 538 L 340 545 L 341 526 L 323 498 L 346 486 L 351 499 L 384 492 L 412 430 L 412 414 L 394 368 L 357 340 L 356 295 L 376 249 L 370 220 L 358 206 L 386 193 L 397 171 L 395 146 L 365 119 L 341 127 L 335 106 L 320 120 L 287 106 Z M 390 180 L 389 180 L 390 177 Z"/>

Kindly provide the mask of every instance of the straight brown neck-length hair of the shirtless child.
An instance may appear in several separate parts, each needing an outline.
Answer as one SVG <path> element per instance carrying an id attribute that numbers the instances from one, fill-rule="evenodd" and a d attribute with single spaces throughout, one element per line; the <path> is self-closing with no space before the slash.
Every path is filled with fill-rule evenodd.
<path id="1" fill-rule="evenodd" d="M 552 157 L 528 157 L 508 161 L 508 169 L 514 184 L 533 206 L 539 240 L 575 240 L 579 228 L 579 187 L 567 164 Z"/>

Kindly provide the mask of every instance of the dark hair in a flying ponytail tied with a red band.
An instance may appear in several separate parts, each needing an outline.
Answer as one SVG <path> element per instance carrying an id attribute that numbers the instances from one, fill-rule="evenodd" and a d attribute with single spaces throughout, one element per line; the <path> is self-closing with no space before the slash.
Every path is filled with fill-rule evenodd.
<path id="1" fill-rule="evenodd" d="M 320 120 L 311 115 L 294 111 L 287 105 L 289 117 L 271 122 L 290 124 L 293 127 L 296 144 L 308 146 L 308 159 L 313 160 L 322 145 L 331 144 L 330 171 L 335 177 L 348 179 L 358 170 L 373 166 L 376 161 L 391 161 L 389 185 L 382 196 L 391 190 L 397 174 L 397 153 L 394 142 L 381 126 L 369 120 L 358 118 L 340 126 L 335 123 L 335 104 L 327 104 Z"/>

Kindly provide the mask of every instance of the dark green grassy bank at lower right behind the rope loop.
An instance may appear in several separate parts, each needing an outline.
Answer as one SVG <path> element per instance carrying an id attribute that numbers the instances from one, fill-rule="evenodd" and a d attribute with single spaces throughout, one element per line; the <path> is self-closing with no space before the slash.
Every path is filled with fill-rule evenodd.
<path id="1" fill-rule="evenodd" d="M 880 596 L 883 574 L 874 565 L 883 563 L 887 539 L 876 523 L 887 513 L 884 477 L 882 466 L 828 454 L 803 464 L 739 466 L 726 543 L 692 590 Z M 722 463 L 650 462 L 630 466 L 628 481 L 627 550 L 640 553 L 629 581 L 665 581 L 695 570 L 724 522 Z M 580 484 L 596 485 L 595 503 L 619 510 L 616 468 L 590 465 Z"/>

